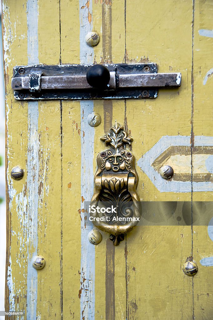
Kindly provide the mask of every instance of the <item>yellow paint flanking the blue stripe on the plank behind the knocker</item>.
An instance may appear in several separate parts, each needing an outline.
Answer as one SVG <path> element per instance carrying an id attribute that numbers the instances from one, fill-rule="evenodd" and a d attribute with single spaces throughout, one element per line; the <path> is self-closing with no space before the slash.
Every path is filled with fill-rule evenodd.
<path id="1" fill-rule="evenodd" d="M 124 16 L 120 15 L 120 12 L 124 10 L 123 1 L 114 4 L 111 1 L 85 2 L 85 5 L 80 6 L 80 9 L 78 3 L 72 3 L 69 5 L 69 10 L 68 4 L 61 2 L 61 62 L 80 63 L 78 49 L 83 44 L 79 40 L 79 10 L 84 9 L 84 7 L 87 8 L 85 16 L 91 19 L 90 14 L 92 15 L 92 30 L 100 36 L 99 44 L 94 47 L 94 61 L 96 63 L 112 61 L 121 63 L 125 55 Z M 67 21 L 72 19 L 75 21 L 71 22 L 74 31 L 70 32 L 70 24 L 67 24 Z M 117 33 L 118 21 L 122 26 L 119 34 Z M 84 42 L 84 39 L 82 41 Z M 70 50 L 68 46 L 72 49 Z M 124 109 L 124 101 L 94 101 L 94 111 L 101 115 L 102 122 L 94 131 L 93 172 L 96 170 L 97 154 L 105 149 L 100 136 L 107 132 L 115 121 L 120 124 L 124 122 Z M 81 137 L 87 133 L 82 131 L 80 122 L 79 102 L 62 102 L 63 235 L 66 235 L 63 236 L 63 283 L 65 284 L 63 285 L 63 315 L 65 319 L 69 319 L 70 315 L 72 317 L 80 315 L 83 318 L 79 300 L 84 290 L 80 285 L 79 276 L 81 272 L 79 208 L 83 196 L 81 194 L 81 184 L 86 183 L 81 181 Z M 70 141 L 71 146 L 74 143 L 71 148 Z M 75 172 L 75 175 L 73 175 L 73 172 Z M 71 221 L 72 224 L 75 224 L 75 229 L 70 228 L 70 224 L 67 224 L 67 221 L 70 220 L 70 205 L 73 211 Z M 125 243 L 120 245 L 117 253 L 112 243 L 107 240 L 108 235 L 103 233 L 102 236 L 102 242 L 95 246 L 95 318 L 110 319 L 111 315 L 114 315 L 116 319 L 126 319 L 126 295 L 121 294 L 121 290 L 122 292 L 126 290 Z M 72 246 L 67 245 L 69 239 L 73 240 Z M 108 245 L 106 244 L 107 241 Z M 70 256 L 74 257 L 75 260 L 72 271 L 69 265 Z M 111 263 L 114 263 L 114 267 Z M 110 271 L 107 269 L 109 272 L 113 271 L 115 273 L 115 279 L 111 279 L 110 274 L 107 274 L 106 265 L 108 265 L 108 269 L 110 268 Z M 79 273 L 77 270 L 79 270 Z M 113 286 L 116 299 L 111 300 L 112 292 L 106 290 L 109 290 L 109 288 L 113 290 Z M 114 309 L 114 312 L 111 313 L 110 309 Z"/>

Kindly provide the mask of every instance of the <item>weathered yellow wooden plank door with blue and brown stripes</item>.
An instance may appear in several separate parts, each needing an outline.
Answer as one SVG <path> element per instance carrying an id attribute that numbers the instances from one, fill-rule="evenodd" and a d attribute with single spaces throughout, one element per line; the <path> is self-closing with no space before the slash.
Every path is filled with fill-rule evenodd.
<path id="1" fill-rule="evenodd" d="M 142 201 L 212 201 L 211 0 L 3 0 L 6 88 L 7 270 L 11 319 L 211 319 L 211 226 L 150 224 L 119 246 L 90 244 L 84 202 L 94 190 L 99 139 L 115 123 L 133 137 Z M 87 32 L 100 42 L 89 47 Z M 181 72 L 156 99 L 16 101 L 13 67 L 148 63 Z M 92 111 L 97 127 L 87 123 Z M 166 181 L 162 164 L 174 169 Z M 11 179 L 13 166 L 24 170 Z M 142 204 L 143 205 L 143 204 Z M 184 205 L 184 204 L 182 204 Z M 160 209 L 159 209 L 160 210 Z M 182 215 L 183 214 L 183 215 Z M 198 212 L 199 214 L 199 212 Z M 193 216 L 193 211 L 192 211 Z M 161 223 L 162 224 L 162 223 Z M 209 231 L 209 232 L 208 232 Z M 45 258 L 36 270 L 32 259 Z M 198 273 L 183 264 L 193 256 Z"/>

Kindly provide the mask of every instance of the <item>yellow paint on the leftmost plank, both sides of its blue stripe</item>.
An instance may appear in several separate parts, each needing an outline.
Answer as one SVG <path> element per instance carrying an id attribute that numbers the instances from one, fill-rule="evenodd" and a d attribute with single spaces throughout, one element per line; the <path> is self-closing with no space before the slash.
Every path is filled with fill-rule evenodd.
<path id="1" fill-rule="evenodd" d="M 59 5 L 51 1 L 39 1 L 38 59 L 40 63 L 57 64 L 60 58 Z M 11 89 L 12 68 L 28 64 L 27 3 L 3 1 L 4 60 L 6 79 L 6 124 L 7 124 L 7 272 L 6 311 L 22 311 L 27 318 L 29 291 L 28 264 L 34 254 L 29 248 L 29 175 L 27 165 L 29 138 L 28 102 L 15 101 Z M 45 30 L 44 27 L 48 25 Z M 38 211 L 37 253 L 45 257 L 46 266 L 37 273 L 38 319 L 59 317 L 61 314 L 61 127 L 60 103 L 38 104 Z M 35 132 L 36 134 L 36 132 Z M 14 165 L 24 169 L 19 181 L 10 178 Z M 34 201 L 31 199 L 31 201 Z M 31 258 L 30 258 L 31 259 Z M 14 318 L 17 316 L 14 316 Z"/>

